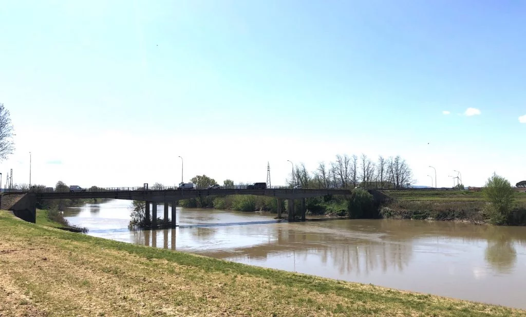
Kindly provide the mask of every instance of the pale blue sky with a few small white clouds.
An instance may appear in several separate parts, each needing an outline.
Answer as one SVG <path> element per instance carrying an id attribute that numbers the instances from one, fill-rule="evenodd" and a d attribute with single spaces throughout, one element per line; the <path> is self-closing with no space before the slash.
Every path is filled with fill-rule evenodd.
<path id="1" fill-rule="evenodd" d="M 290 177 L 400 155 L 416 185 L 526 179 L 526 3 L 0 0 L 14 183 Z"/>

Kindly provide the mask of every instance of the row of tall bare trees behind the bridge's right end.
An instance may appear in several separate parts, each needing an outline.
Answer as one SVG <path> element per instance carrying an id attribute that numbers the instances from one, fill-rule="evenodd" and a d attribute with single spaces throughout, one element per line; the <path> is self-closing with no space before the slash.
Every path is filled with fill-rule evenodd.
<path id="1" fill-rule="evenodd" d="M 294 185 L 304 188 L 404 188 L 413 183 L 411 168 L 400 156 L 379 156 L 372 161 L 367 155 L 337 155 L 328 164 L 320 162 L 312 173 L 304 164 L 294 170 Z M 292 180 L 289 182 L 292 185 Z"/>

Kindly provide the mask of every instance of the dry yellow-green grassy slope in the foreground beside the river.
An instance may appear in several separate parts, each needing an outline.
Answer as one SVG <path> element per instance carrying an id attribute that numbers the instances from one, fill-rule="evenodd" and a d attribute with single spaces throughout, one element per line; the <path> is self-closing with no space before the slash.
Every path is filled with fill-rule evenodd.
<path id="1" fill-rule="evenodd" d="M 0 315 L 521 316 L 526 311 L 251 267 L 0 211 Z"/>

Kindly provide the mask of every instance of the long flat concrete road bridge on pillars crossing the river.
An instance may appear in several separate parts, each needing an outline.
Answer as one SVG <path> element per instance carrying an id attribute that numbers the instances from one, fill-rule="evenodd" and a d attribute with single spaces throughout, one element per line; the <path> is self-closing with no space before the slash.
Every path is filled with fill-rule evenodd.
<path id="1" fill-rule="evenodd" d="M 175 187 L 118 187 L 118 188 L 97 188 L 86 189 L 85 191 L 57 191 L 45 189 L 33 189 L 27 191 L 8 191 L 4 193 L 9 195 L 24 195 L 22 203 L 18 208 L 28 209 L 28 221 L 35 222 L 36 219 L 36 200 L 41 199 L 90 199 L 90 198 L 107 198 L 107 199 L 124 199 L 140 200 L 146 202 L 145 219 L 146 225 L 151 228 L 157 228 L 157 204 L 164 203 L 164 223 L 168 223 L 168 211 L 171 206 L 177 206 L 181 199 L 199 198 L 211 195 L 256 195 L 275 197 L 278 201 L 278 218 L 281 217 L 281 206 L 284 200 L 288 200 L 288 220 L 294 220 L 295 201 L 301 203 L 301 220 L 306 218 L 305 199 L 310 197 L 320 197 L 326 195 L 350 195 L 350 189 L 291 189 L 285 187 L 271 187 L 266 189 L 251 189 L 247 186 L 232 186 L 229 188 L 219 189 L 181 189 Z M 151 207 L 150 207 L 151 205 Z M 150 223 L 151 211 L 151 223 Z M 171 227 L 176 226 L 175 208 L 171 208 Z M 16 214 L 16 213 L 15 213 Z M 21 217 L 22 218 L 22 217 Z M 24 219 L 24 218 L 23 218 Z M 25 219 L 27 220 L 27 219 Z"/>

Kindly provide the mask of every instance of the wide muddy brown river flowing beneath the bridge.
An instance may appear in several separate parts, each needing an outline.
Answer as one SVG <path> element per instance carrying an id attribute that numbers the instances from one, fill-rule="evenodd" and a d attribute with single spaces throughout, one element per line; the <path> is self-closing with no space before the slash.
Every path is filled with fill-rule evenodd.
<path id="1" fill-rule="evenodd" d="M 526 309 L 524 227 L 388 219 L 288 223 L 275 214 L 177 207 L 180 227 L 130 231 L 130 204 L 85 204 L 64 215 L 95 237 Z M 157 210 L 162 217 L 163 206 Z"/>

